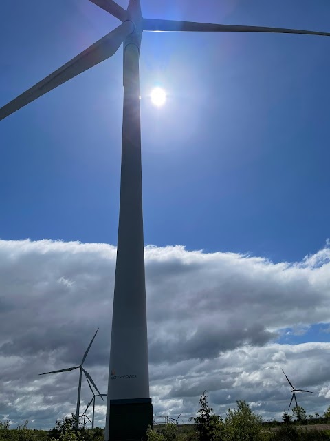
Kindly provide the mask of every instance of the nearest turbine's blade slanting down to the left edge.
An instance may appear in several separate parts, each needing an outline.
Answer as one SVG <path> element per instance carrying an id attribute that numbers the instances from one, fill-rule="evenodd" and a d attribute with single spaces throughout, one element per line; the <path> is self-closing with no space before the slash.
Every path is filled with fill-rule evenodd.
<path id="1" fill-rule="evenodd" d="M 43 80 L 36 83 L 32 88 L 17 96 L 17 98 L 10 101 L 0 109 L 0 120 L 6 116 L 16 112 L 28 103 L 31 103 L 39 96 L 43 96 L 50 90 L 57 88 L 59 85 L 69 81 L 78 74 L 85 72 L 85 70 L 92 68 L 111 57 L 118 50 L 124 39 L 133 32 L 133 23 L 125 21 L 118 28 L 111 31 L 102 39 L 98 40 L 86 50 L 81 52 L 77 57 L 68 61 L 61 68 L 46 76 Z"/>

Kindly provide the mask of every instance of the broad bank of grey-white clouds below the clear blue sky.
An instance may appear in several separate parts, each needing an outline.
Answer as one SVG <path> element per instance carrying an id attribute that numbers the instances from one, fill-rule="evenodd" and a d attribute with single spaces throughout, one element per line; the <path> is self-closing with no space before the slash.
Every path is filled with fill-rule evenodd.
<path id="1" fill-rule="evenodd" d="M 107 390 L 116 249 L 104 244 L 0 241 L 0 420 L 52 427 L 75 410 L 78 370 Z M 151 396 L 154 411 L 186 421 L 206 390 L 216 411 L 235 400 L 279 418 L 291 399 L 283 367 L 308 413 L 330 403 L 330 344 L 280 345 L 329 323 L 330 249 L 298 263 L 233 253 L 146 247 Z M 324 334 L 325 335 L 325 334 Z M 84 384 L 82 406 L 89 401 Z M 97 404 L 104 425 L 104 405 Z"/>

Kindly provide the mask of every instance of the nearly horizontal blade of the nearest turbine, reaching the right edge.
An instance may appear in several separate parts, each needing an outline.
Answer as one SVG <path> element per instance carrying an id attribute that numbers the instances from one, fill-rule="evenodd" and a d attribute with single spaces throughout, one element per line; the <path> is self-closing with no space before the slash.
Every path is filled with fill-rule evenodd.
<path id="1" fill-rule="evenodd" d="M 330 36 L 330 32 L 313 30 L 265 28 L 264 26 L 219 25 L 213 23 L 197 23 L 195 21 L 175 21 L 159 19 L 143 19 L 142 29 L 148 31 L 189 31 L 189 32 L 275 32 L 278 34 L 307 34 Z"/>

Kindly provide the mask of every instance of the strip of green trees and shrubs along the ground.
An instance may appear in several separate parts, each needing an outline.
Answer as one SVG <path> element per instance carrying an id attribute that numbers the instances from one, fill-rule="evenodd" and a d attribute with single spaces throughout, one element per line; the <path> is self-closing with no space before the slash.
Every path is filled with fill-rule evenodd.
<path id="1" fill-rule="evenodd" d="M 330 424 L 330 406 L 324 416 L 307 414 L 303 407 L 294 407 L 292 415 L 283 413 L 283 421 L 263 422 L 245 401 L 236 401 L 236 409 L 228 409 L 226 417 L 214 413 L 204 393 L 199 400 L 197 416 L 192 424 L 159 424 L 146 431 L 146 441 L 330 441 L 330 430 L 307 430 L 309 424 Z M 103 441 L 104 429 L 76 427 L 76 416 L 56 422 L 50 431 L 28 429 L 28 421 L 16 429 L 9 421 L 0 422 L 0 441 Z"/>

